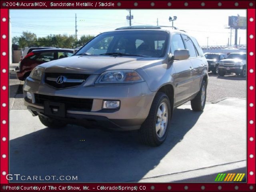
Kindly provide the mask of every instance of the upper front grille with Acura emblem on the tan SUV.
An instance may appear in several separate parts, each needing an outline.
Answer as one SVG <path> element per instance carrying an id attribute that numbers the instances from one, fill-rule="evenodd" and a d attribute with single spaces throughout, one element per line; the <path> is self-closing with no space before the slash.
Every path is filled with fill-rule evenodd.
<path id="1" fill-rule="evenodd" d="M 82 80 L 81 82 L 64 82 L 58 84 L 53 80 L 47 80 L 47 78 L 58 78 L 59 76 L 64 76 L 67 80 Z M 58 89 L 74 87 L 82 84 L 90 75 L 88 74 L 74 74 L 74 73 L 45 73 L 44 82 L 50 86 L 53 86 Z"/>

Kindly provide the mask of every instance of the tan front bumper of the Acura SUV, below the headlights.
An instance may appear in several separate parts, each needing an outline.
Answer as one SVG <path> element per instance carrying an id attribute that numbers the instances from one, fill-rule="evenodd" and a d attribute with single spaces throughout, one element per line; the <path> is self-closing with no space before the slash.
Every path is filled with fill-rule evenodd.
<path id="1" fill-rule="evenodd" d="M 94 76 L 94 77 L 91 77 Z M 96 79 L 98 76 L 91 75 Z M 45 115 L 44 104 L 35 100 L 35 94 L 59 96 L 68 98 L 92 99 L 90 110 L 66 109 L 65 117 L 49 116 L 70 124 L 112 128 L 115 130 L 136 130 L 147 118 L 156 92 L 151 92 L 146 82 L 134 84 L 100 84 L 95 85 L 92 79 L 86 80 L 80 86 L 56 89 L 44 82 L 28 77 L 24 84 L 26 92 L 32 93 L 32 100 L 25 97 L 25 106 L 33 115 Z M 114 110 L 102 109 L 103 100 L 119 100 L 120 108 Z M 56 102 L 56 101 L 55 101 Z"/>

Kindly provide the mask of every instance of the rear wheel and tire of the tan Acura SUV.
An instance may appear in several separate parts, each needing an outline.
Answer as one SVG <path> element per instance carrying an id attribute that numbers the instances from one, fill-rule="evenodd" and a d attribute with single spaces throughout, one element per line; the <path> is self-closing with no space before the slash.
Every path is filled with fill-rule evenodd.
<path id="1" fill-rule="evenodd" d="M 191 100 L 191 107 L 193 111 L 203 111 L 206 102 L 206 82 L 203 80 L 200 91 L 194 99 Z"/>

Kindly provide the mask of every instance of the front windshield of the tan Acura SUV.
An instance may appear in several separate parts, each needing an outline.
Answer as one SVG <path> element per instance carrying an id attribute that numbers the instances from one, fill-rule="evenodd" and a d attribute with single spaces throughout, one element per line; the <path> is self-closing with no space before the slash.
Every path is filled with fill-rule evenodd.
<path id="1" fill-rule="evenodd" d="M 168 33 L 163 31 L 106 32 L 92 39 L 75 55 L 163 57 L 166 53 L 167 40 Z"/>

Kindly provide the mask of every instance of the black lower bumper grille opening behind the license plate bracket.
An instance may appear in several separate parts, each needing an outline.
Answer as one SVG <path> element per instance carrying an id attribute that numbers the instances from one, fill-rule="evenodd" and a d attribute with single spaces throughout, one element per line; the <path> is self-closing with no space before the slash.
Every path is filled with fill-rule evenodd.
<path id="1" fill-rule="evenodd" d="M 84 98 L 72 98 L 72 97 L 60 97 L 60 96 L 50 96 L 42 94 L 34 94 L 36 104 L 44 105 L 44 101 L 60 102 L 64 103 L 66 109 L 81 109 L 81 110 L 91 110 L 93 99 Z"/>

